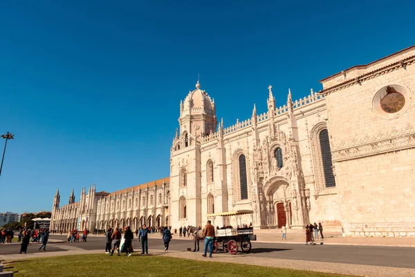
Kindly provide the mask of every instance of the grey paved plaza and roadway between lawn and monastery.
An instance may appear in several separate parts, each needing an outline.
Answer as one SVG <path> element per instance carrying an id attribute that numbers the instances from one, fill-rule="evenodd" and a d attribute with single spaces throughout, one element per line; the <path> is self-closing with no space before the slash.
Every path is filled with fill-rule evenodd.
<path id="1" fill-rule="evenodd" d="M 249 254 L 238 253 L 236 256 L 231 256 L 229 253 L 216 253 L 212 260 L 246 265 L 349 274 L 354 276 L 415 276 L 415 263 L 413 262 L 415 260 L 415 247 L 324 244 L 324 241 L 330 240 L 330 238 L 322 240 L 323 244 L 306 246 L 304 243 L 299 242 L 300 238 L 296 238 L 293 235 L 295 235 L 295 233 L 291 234 L 291 241 L 252 242 L 252 251 Z M 103 236 L 90 235 L 88 242 L 86 243 L 74 242 L 69 244 L 64 242 L 65 238 L 66 235 L 50 235 L 51 243 L 48 244 L 47 251 L 39 252 L 38 244 L 30 244 L 26 255 L 18 254 L 20 245 L 17 243 L 0 245 L 0 260 L 17 260 L 22 258 L 65 256 L 85 253 L 102 253 L 103 257 L 105 256 L 103 253 L 105 247 Z M 275 238 L 277 239 L 277 237 Z M 341 238 L 332 239 L 341 240 Z M 345 241 L 350 241 L 351 239 L 352 238 L 344 238 Z M 385 242 L 381 242 L 382 238 L 370 239 L 371 238 L 367 238 L 366 240 L 369 242 L 376 242 L 375 244 L 391 241 L 385 240 Z M 414 241 L 415 240 L 412 239 L 412 243 Z M 163 251 L 163 242 L 158 233 L 150 235 L 149 238 L 149 253 L 152 255 L 206 260 L 201 256 L 204 249 L 203 242 L 201 242 L 199 253 L 187 251 L 188 248 L 193 249 L 193 246 L 194 242 L 192 240 L 174 235 L 170 244 L 170 251 L 169 253 L 165 253 Z M 136 251 L 134 255 L 139 255 L 140 242 L 134 240 L 133 248 Z"/>

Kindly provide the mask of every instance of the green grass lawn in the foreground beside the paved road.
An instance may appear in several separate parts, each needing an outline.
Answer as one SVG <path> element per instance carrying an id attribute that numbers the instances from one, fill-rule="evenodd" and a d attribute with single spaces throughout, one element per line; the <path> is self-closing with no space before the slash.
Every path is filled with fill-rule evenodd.
<path id="1" fill-rule="evenodd" d="M 246 276 L 286 276 L 286 277 L 334 277 L 337 274 L 323 274 L 311 271 L 277 269 L 273 267 L 257 267 L 237 265 L 225 262 L 200 262 L 179 258 L 160 256 L 131 257 L 104 254 L 77 256 L 61 256 L 53 258 L 35 258 L 17 260 L 7 265 L 19 271 L 16 277 L 39 276 L 167 276 L 167 277 L 246 277 Z"/>

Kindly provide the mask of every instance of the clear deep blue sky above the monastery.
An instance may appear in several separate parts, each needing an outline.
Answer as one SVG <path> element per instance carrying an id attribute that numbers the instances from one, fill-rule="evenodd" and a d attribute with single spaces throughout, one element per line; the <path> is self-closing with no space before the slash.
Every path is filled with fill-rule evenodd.
<path id="1" fill-rule="evenodd" d="M 229 126 L 414 44 L 411 1 L 312 2 L 1 1 L 0 211 L 167 177 L 198 73 Z"/>

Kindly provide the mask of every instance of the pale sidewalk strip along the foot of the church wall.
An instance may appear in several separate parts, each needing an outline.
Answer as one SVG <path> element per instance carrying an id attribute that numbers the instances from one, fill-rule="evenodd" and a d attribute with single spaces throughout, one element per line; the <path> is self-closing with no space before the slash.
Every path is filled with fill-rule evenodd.
<path id="1" fill-rule="evenodd" d="M 257 242 L 266 243 L 293 243 L 305 244 L 306 235 L 304 230 L 288 230 L 287 239 L 282 240 L 282 233 L 280 229 L 273 230 L 255 230 L 257 235 Z M 160 235 L 158 233 L 151 234 L 151 236 Z M 371 247 L 415 247 L 415 238 L 365 238 L 365 237 L 343 237 L 339 232 L 325 232 L 324 239 L 317 239 L 317 244 L 327 245 L 356 245 L 356 246 L 371 246 Z M 183 238 L 177 234 L 173 234 L 175 240 L 188 240 L 190 238 Z"/>

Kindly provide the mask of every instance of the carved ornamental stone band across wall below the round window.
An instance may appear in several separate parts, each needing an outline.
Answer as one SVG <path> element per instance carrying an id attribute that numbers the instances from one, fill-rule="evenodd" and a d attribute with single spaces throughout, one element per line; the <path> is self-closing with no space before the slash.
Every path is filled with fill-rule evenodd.
<path id="1" fill-rule="evenodd" d="M 402 129 L 392 127 L 389 131 L 379 131 L 372 137 L 356 138 L 357 135 L 351 136 L 349 141 L 333 145 L 333 162 L 415 147 L 415 129 L 410 123 Z"/>

